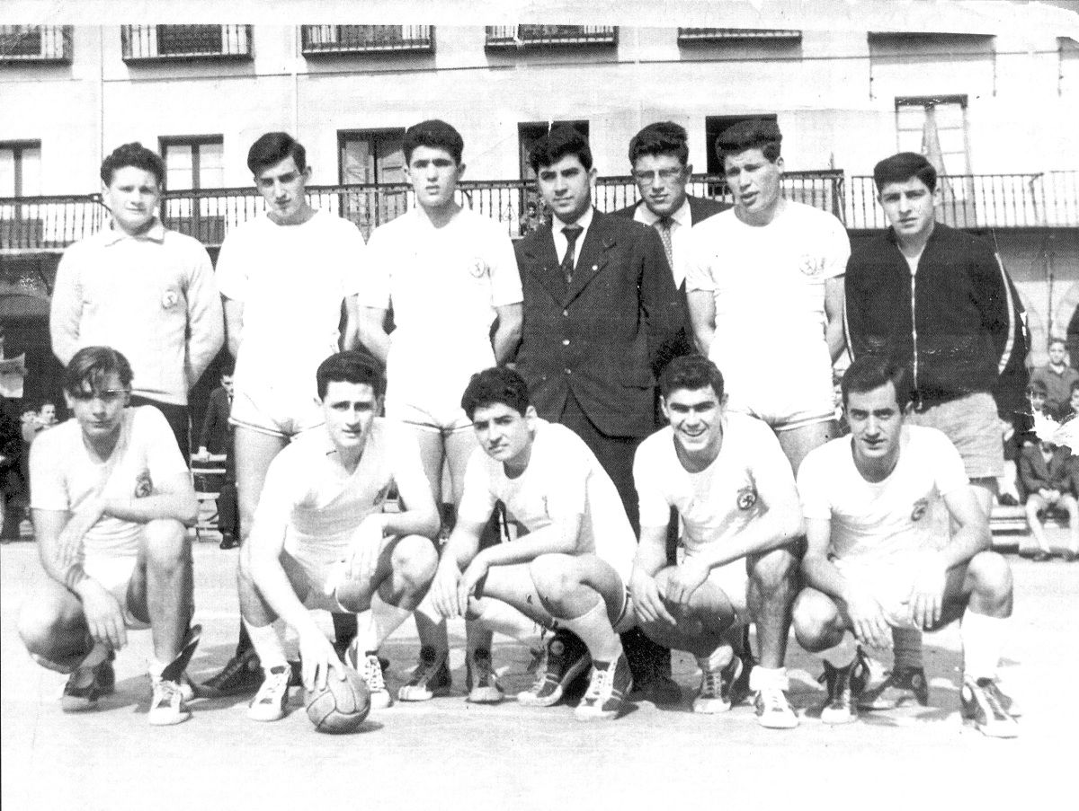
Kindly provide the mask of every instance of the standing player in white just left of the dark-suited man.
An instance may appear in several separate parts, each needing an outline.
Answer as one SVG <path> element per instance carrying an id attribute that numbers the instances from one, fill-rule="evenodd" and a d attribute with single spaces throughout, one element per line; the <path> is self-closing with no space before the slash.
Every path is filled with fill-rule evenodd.
<path id="1" fill-rule="evenodd" d="M 459 393 L 473 373 L 503 362 L 517 348 L 521 280 L 505 229 L 454 200 L 465 170 L 457 130 L 445 121 L 421 122 L 406 130 L 404 150 L 416 205 L 371 234 L 359 294 L 360 341 L 386 365 L 386 416 L 415 436 L 436 501 L 456 507 L 476 449 Z M 391 307 L 395 329 L 387 334 Z M 443 464 L 450 473 L 447 494 Z M 429 616 L 426 604 L 415 618 L 420 663 L 400 688 L 402 701 L 450 689 L 446 624 Z M 479 647 L 488 659 L 490 645 L 489 636 L 469 634 L 469 649 Z"/>

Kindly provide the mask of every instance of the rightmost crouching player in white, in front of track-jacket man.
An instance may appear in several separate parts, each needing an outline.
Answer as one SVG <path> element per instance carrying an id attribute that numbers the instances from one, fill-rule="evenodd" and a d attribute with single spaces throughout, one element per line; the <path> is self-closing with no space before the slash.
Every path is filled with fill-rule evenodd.
<path id="1" fill-rule="evenodd" d="M 885 647 L 890 628 L 932 630 L 962 618 L 962 717 L 987 736 L 1014 738 L 1010 699 L 996 684 L 1005 619 L 1012 611 L 1008 563 L 989 551 L 985 514 L 958 452 L 940 431 L 904 425 L 904 367 L 860 358 L 843 379 L 850 436 L 806 456 L 798 470 L 808 551 L 794 605 L 798 642 L 827 654 L 827 724 L 855 720 L 868 677 L 857 643 Z M 956 527 L 933 519 L 943 498 Z"/>

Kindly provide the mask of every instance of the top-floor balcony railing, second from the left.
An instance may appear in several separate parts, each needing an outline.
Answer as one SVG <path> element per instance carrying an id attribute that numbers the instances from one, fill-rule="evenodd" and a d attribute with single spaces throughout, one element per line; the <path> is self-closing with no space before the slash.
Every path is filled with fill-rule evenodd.
<path id="1" fill-rule="evenodd" d="M 122 26 L 124 61 L 250 59 L 251 26 Z"/>

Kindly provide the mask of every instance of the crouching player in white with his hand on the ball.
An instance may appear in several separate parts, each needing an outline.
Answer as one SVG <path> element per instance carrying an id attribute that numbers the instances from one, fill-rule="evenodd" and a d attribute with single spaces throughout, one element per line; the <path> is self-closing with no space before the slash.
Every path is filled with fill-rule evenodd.
<path id="1" fill-rule="evenodd" d="M 299 437 L 271 463 L 250 539 L 241 547 L 241 617 L 264 676 L 247 713 L 255 720 L 284 717 L 288 701 L 291 669 L 273 626 L 278 617 L 299 636 L 308 689 L 344 678 L 314 608 L 365 613 L 345 659 L 367 682 L 371 706 L 388 706 L 379 646 L 415 609 L 437 565 L 431 538 L 438 511 L 419 448 L 375 416 L 385 391 L 382 370 L 342 352 L 323 361 L 316 382 L 325 427 Z M 384 512 L 394 486 L 400 511 Z"/>

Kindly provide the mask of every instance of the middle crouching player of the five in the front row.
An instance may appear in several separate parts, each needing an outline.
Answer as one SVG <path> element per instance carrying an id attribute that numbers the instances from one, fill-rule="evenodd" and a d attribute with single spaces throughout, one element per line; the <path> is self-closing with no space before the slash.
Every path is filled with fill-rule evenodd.
<path id="1" fill-rule="evenodd" d="M 632 688 L 618 633 L 633 624 L 626 585 L 633 563 L 633 531 L 618 492 L 576 434 L 536 416 L 528 386 L 515 371 L 473 375 L 461 399 L 480 450 L 465 472 L 457 523 L 432 586 L 446 617 L 483 626 L 503 603 L 555 634 L 535 686 L 522 704 L 550 706 L 588 666 L 581 720 L 615 718 Z M 479 549 L 480 534 L 502 500 L 527 534 Z M 568 644 L 570 641 L 571 644 Z"/>

